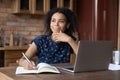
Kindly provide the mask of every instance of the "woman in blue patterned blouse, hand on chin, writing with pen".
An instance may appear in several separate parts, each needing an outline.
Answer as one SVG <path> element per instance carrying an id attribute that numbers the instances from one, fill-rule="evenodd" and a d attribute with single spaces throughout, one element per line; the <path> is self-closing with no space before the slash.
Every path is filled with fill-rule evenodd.
<path id="1" fill-rule="evenodd" d="M 70 54 L 77 52 L 76 19 L 74 13 L 67 8 L 54 8 L 46 14 L 46 32 L 37 36 L 25 55 L 31 59 L 36 55 L 36 64 L 70 62 Z M 18 64 L 25 69 L 33 69 L 35 63 L 29 64 L 24 57 Z"/>

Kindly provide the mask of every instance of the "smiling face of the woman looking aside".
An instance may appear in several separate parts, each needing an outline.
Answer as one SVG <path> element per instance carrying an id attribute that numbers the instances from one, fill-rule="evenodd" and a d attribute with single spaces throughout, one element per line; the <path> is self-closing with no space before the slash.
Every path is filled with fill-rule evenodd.
<path id="1" fill-rule="evenodd" d="M 50 28 L 53 33 L 59 33 L 60 31 L 64 32 L 67 26 L 67 19 L 62 13 L 54 13 L 51 22 Z"/>

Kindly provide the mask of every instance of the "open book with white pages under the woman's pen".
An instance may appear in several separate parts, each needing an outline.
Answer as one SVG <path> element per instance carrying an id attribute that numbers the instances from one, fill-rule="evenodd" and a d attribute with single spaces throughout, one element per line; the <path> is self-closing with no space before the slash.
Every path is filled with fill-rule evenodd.
<path id="1" fill-rule="evenodd" d="M 29 73 L 60 73 L 60 71 L 55 67 L 47 63 L 39 63 L 37 69 L 26 70 L 21 66 L 16 68 L 16 74 L 29 74 Z"/>

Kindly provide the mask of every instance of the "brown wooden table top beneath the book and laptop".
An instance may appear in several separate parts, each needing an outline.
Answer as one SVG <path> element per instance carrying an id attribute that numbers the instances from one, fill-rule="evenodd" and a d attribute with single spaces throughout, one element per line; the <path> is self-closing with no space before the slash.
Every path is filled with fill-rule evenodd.
<path id="1" fill-rule="evenodd" d="M 94 71 L 69 73 L 60 70 L 60 74 L 27 74 L 16 75 L 16 67 L 3 67 L 0 72 L 12 78 L 12 80 L 120 80 L 120 71 Z M 1 77 L 1 75 L 0 75 Z M 8 79 L 2 79 L 8 80 Z"/>

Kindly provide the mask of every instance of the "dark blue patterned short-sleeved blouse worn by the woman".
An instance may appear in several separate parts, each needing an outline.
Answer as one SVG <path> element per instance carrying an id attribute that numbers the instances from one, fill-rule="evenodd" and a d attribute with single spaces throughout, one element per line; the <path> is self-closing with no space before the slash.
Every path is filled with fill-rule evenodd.
<path id="1" fill-rule="evenodd" d="M 36 37 L 33 42 L 38 52 L 36 64 L 46 62 L 49 64 L 70 62 L 71 46 L 65 42 L 54 42 L 49 35 Z"/>

